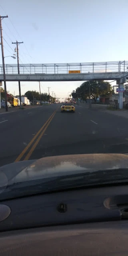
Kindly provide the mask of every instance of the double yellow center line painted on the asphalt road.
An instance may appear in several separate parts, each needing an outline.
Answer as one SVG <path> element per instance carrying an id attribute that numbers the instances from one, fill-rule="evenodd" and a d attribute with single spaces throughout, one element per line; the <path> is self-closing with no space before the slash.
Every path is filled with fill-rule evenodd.
<path id="1" fill-rule="evenodd" d="M 52 119 L 54 118 L 54 115 L 56 114 L 56 110 L 53 112 L 53 114 L 50 116 L 50 118 L 48 118 L 48 120 L 45 122 L 45 124 L 40 128 L 40 130 L 37 132 L 37 134 L 32 138 L 32 140 L 29 142 L 29 144 L 26 146 L 26 148 L 24 148 L 24 150 L 21 152 L 21 154 L 16 158 L 15 162 L 19 162 L 21 160 L 21 158 L 24 156 L 24 154 L 27 152 L 27 150 L 30 148 L 30 146 L 32 145 L 32 143 L 34 142 L 34 140 L 36 140 L 36 138 L 38 137 L 38 135 L 40 134 L 40 136 L 37 138 L 37 140 L 35 141 L 35 143 L 33 144 L 32 148 L 30 149 L 30 151 L 28 152 L 28 154 L 25 156 L 24 160 L 28 160 L 30 158 L 30 156 L 32 155 L 32 152 L 34 151 L 34 149 L 36 148 L 37 144 L 39 143 L 41 137 L 43 136 L 44 132 L 46 131 L 48 125 L 50 124 L 50 122 L 52 121 Z M 40 133 L 41 132 L 41 133 Z"/>

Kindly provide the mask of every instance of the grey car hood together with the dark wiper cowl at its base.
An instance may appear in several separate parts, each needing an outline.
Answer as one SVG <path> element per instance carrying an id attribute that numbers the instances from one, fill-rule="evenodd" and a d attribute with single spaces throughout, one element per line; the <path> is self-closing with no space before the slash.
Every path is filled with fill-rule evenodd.
<path id="1" fill-rule="evenodd" d="M 76 184 L 80 176 L 82 184 L 84 179 L 86 185 L 126 181 L 128 180 L 128 154 L 50 156 L 2 166 L 0 167 L 0 198 L 8 198 L 7 192 L 10 188 L 20 190 L 26 186 L 28 188 L 31 185 L 48 184 L 48 182 L 54 185 L 56 181 L 62 182 L 63 180 L 64 183 L 64 178 L 68 177 L 70 179 L 76 177 Z M 65 185 L 67 181 L 65 179 Z"/>

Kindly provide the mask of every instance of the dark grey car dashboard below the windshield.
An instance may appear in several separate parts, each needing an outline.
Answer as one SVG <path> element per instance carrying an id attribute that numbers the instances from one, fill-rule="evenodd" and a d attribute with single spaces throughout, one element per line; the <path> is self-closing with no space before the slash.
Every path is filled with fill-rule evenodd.
<path id="1" fill-rule="evenodd" d="M 0 207 L 2 256 L 128 255 L 127 185 L 28 196 Z"/>

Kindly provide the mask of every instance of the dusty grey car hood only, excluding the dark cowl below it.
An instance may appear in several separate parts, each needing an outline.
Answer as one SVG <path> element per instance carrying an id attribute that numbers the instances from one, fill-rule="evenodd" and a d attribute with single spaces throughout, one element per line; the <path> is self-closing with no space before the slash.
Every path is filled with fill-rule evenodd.
<path id="1" fill-rule="evenodd" d="M 128 168 L 127 154 L 75 154 L 50 156 L 0 167 L 10 184 L 15 181 L 58 177 L 76 173 Z M 12 180 L 12 182 L 11 182 Z"/>

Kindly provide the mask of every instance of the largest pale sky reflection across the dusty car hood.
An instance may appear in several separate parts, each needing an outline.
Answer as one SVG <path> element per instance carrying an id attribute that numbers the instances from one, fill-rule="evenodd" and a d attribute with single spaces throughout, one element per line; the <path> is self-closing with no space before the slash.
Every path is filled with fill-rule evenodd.
<path id="1" fill-rule="evenodd" d="M 96 172 L 128 168 L 127 154 L 77 154 L 64 156 L 50 156 L 36 160 L 26 168 L 34 175 L 62 176 L 79 172 Z"/>

